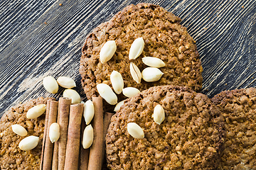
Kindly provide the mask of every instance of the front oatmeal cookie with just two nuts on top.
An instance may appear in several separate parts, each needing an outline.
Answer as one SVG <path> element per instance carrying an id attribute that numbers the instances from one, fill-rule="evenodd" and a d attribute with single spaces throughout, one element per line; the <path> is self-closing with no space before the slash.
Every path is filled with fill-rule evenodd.
<path id="1" fill-rule="evenodd" d="M 164 108 L 159 125 L 152 114 Z M 143 139 L 129 135 L 137 123 Z M 110 169 L 215 169 L 223 144 L 223 117 L 210 99 L 187 87 L 154 86 L 129 98 L 112 116 L 106 135 Z"/>

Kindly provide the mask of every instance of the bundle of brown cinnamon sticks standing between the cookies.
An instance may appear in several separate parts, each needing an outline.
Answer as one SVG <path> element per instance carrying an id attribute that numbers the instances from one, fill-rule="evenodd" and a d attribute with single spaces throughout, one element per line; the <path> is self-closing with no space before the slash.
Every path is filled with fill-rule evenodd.
<path id="1" fill-rule="evenodd" d="M 47 101 L 46 123 L 43 135 L 41 170 L 101 170 L 105 154 L 105 135 L 112 113 L 102 111 L 102 97 L 92 98 L 95 115 L 92 119 L 93 142 L 90 148 L 82 147 L 82 132 L 85 120 L 82 118 L 84 104 L 71 104 L 70 98 Z M 103 119 L 104 116 L 104 119 Z M 60 138 L 51 143 L 49 127 L 52 123 L 60 125 Z"/>

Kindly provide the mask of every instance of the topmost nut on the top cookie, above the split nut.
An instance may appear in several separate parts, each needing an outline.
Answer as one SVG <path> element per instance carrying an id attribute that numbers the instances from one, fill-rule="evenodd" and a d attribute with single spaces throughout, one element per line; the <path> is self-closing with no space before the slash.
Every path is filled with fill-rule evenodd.
<path id="1" fill-rule="evenodd" d="M 142 54 L 143 49 L 144 49 L 143 38 L 137 38 L 136 40 L 134 40 L 129 50 L 129 60 L 134 60 L 137 57 L 139 57 L 139 55 Z"/>

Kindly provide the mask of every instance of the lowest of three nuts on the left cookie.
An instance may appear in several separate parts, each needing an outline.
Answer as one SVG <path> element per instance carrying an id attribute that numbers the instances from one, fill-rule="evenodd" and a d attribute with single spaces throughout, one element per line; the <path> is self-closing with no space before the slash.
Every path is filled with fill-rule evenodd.
<path id="1" fill-rule="evenodd" d="M 28 151 L 34 149 L 39 142 L 39 137 L 36 136 L 28 136 L 25 137 L 21 142 L 19 142 L 18 147 L 23 151 Z"/>

